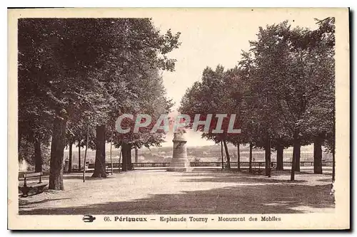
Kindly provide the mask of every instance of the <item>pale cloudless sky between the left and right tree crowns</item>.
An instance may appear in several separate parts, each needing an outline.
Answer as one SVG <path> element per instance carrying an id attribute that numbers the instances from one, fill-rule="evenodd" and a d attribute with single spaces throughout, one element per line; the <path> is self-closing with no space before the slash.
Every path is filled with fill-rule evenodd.
<path id="1" fill-rule="evenodd" d="M 181 46 L 169 53 L 169 58 L 177 60 L 174 72 L 164 72 L 164 85 L 167 95 L 172 98 L 174 114 L 187 88 L 201 80 L 203 69 L 207 66 L 224 68 L 237 65 L 242 51 L 248 51 L 249 41 L 256 40 L 259 26 L 280 23 L 288 20 L 291 26 L 316 28 L 316 19 L 331 16 L 326 11 L 313 9 L 278 11 L 267 9 L 216 9 L 216 10 L 179 10 L 157 14 L 152 18 L 161 33 L 169 28 L 173 33 L 181 32 Z M 199 132 L 186 133 L 188 146 L 214 144 L 201 139 Z M 172 134 L 166 136 L 163 146 L 172 145 Z"/>

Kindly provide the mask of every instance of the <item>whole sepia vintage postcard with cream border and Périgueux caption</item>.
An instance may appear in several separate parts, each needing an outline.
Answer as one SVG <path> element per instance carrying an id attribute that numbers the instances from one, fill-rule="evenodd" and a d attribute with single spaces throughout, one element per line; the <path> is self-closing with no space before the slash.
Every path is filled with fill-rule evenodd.
<path id="1" fill-rule="evenodd" d="M 350 228 L 349 9 L 9 9 L 11 230 Z"/>

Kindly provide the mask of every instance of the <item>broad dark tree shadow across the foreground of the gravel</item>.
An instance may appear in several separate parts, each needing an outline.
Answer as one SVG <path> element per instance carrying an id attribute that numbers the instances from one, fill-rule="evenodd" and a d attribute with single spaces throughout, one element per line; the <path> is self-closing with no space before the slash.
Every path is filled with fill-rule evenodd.
<path id="1" fill-rule="evenodd" d="M 266 184 L 153 194 L 134 201 L 21 210 L 19 214 L 298 214 L 302 207 L 333 208 L 330 185 Z"/>

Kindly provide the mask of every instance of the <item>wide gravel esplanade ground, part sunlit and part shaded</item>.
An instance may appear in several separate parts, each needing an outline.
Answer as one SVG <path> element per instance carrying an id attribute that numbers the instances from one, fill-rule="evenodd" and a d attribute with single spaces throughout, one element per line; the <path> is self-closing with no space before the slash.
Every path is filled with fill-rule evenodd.
<path id="1" fill-rule="evenodd" d="M 273 177 L 219 169 L 134 170 L 94 179 L 64 176 L 65 191 L 19 199 L 19 214 L 283 214 L 331 212 L 330 174 L 274 172 Z M 47 177 L 48 179 L 48 177 Z M 47 181 L 46 178 L 44 181 Z"/>

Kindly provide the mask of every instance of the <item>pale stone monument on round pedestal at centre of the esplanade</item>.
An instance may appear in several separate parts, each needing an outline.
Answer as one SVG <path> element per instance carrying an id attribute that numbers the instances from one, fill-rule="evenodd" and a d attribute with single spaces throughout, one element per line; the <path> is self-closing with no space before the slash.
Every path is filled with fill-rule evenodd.
<path id="1" fill-rule="evenodd" d="M 166 169 L 169 172 L 186 172 L 190 170 L 190 162 L 187 159 L 185 130 L 174 132 L 174 147 L 172 149 L 172 160 L 170 167 Z"/>

